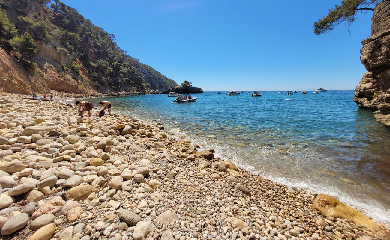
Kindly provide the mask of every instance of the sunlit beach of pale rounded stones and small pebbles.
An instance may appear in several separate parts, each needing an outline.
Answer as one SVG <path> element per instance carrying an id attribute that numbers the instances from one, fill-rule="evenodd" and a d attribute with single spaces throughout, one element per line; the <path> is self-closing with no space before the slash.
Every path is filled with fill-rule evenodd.
<path id="1" fill-rule="evenodd" d="M 149 125 L 118 115 L 82 119 L 76 117 L 74 106 L 20 101 L 14 96 L 3 98 L 0 106 L 4 144 L 0 167 L 7 170 L 4 164 L 12 160 L 28 165 L 16 164 L 20 169 L 2 177 L 9 184 L 0 195 L 4 239 L 374 236 L 347 220 L 317 213 L 311 207 L 315 194 L 274 183 L 233 164 L 223 165 L 219 158 L 193 155 L 199 146 L 174 139 L 158 123 Z M 117 135 L 115 129 L 121 124 L 137 130 L 133 135 Z M 40 134 L 21 137 L 22 126 L 31 125 L 54 130 L 51 135 L 41 132 L 47 140 L 38 140 Z M 69 186 L 79 189 L 69 191 L 74 189 Z"/>

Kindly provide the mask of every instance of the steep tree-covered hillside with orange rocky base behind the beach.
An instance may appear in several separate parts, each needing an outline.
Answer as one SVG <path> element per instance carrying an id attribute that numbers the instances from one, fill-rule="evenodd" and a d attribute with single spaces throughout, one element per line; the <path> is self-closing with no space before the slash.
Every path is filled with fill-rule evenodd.
<path id="1" fill-rule="evenodd" d="M 0 91 L 154 93 L 178 86 L 130 57 L 117 46 L 115 36 L 58 0 L 3 0 L 0 11 Z M 26 32 L 37 53 L 23 59 L 11 41 Z"/>

